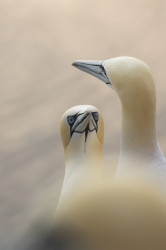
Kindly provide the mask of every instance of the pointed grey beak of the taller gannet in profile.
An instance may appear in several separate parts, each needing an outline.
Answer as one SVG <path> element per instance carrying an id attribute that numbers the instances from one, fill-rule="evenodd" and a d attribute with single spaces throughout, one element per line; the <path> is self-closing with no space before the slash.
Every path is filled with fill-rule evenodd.
<path id="1" fill-rule="evenodd" d="M 105 69 L 102 65 L 102 61 L 76 61 L 72 64 L 74 67 L 89 73 L 90 75 L 93 75 L 106 84 L 111 84 L 107 74 L 105 72 Z"/>

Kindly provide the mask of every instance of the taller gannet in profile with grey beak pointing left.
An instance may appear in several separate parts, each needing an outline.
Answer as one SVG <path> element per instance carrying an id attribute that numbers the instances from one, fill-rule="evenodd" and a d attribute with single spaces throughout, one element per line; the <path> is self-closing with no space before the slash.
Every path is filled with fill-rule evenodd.
<path id="1" fill-rule="evenodd" d="M 104 81 L 120 98 L 122 125 L 117 173 L 124 174 L 126 168 L 136 170 L 138 166 L 165 181 L 166 159 L 156 136 L 156 91 L 150 68 L 139 59 L 125 56 L 105 61 L 80 60 L 73 66 Z"/>

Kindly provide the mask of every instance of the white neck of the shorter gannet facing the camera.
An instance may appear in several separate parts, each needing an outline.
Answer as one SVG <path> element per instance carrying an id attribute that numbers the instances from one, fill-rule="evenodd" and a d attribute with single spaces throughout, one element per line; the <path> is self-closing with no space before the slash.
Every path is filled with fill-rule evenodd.
<path id="1" fill-rule="evenodd" d="M 79 150 L 73 150 L 73 147 L 70 147 L 66 150 L 65 156 L 66 170 L 59 204 L 70 199 L 71 195 L 79 192 L 79 189 L 91 182 L 93 178 L 99 178 L 103 166 L 101 145 L 91 147 L 87 142 L 85 148 L 83 143 Z"/>

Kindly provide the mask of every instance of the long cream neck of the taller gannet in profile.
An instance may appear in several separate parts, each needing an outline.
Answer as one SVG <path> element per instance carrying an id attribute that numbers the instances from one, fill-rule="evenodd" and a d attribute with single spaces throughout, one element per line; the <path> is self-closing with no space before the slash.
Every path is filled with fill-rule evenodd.
<path id="1" fill-rule="evenodd" d="M 163 161 L 164 156 L 156 138 L 153 108 L 122 110 L 120 148 L 118 170 L 135 166 L 153 168 Z"/>

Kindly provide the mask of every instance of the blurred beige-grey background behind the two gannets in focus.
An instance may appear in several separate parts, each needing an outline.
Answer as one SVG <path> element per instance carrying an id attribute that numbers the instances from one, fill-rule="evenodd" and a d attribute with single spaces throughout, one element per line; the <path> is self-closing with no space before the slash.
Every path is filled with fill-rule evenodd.
<path id="1" fill-rule="evenodd" d="M 100 109 L 106 166 L 117 161 L 119 100 L 73 61 L 126 55 L 148 63 L 166 153 L 165 45 L 163 0 L 0 1 L 0 249 L 12 249 L 49 192 L 58 199 L 64 175 L 59 121 L 66 109 Z"/>

